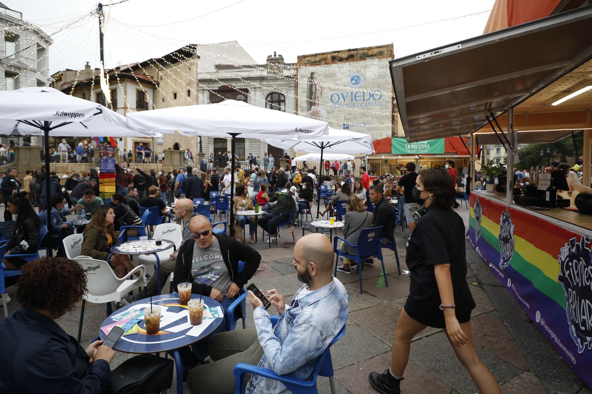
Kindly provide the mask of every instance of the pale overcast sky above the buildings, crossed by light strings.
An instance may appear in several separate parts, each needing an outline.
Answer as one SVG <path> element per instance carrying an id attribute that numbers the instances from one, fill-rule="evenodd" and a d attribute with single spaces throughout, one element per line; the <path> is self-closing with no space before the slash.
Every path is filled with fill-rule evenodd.
<path id="1" fill-rule="evenodd" d="M 22 12 L 26 20 L 38 21 L 47 34 L 57 30 L 47 23 L 72 19 L 71 14 L 96 7 L 95 0 L 2 2 Z M 107 67 L 114 67 L 160 57 L 188 43 L 233 40 L 239 41 L 258 63 L 265 63 L 266 57 L 274 51 L 282 54 L 286 62 L 293 63 L 300 54 L 390 43 L 394 44 L 395 57 L 401 57 L 480 35 L 489 13 L 387 33 L 372 32 L 488 11 L 493 4 L 494 0 L 128 0 L 111 8 L 114 19 L 108 21 L 105 32 L 105 63 Z M 227 6 L 230 7 L 215 11 Z M 108 13 L 109 8 L 105 7 L 105 12 Z M 195 18 L 204 14 L 208 15 Z M 184 21 L 189 18 L 194 19 Z M 162 24 L 169 25 L 147 27 Z M 50 73 L 65 68 L 79 69 L 85 62 L 98 67 L 96 17 L 53 37 Z"/>

